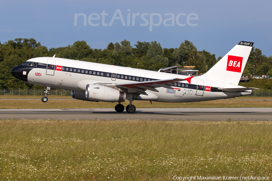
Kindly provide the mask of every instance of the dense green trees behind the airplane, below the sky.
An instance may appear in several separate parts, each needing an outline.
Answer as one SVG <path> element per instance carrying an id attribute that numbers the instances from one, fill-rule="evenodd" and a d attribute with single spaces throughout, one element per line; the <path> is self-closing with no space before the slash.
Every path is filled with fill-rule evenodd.
<path id="1" fill-rule="evenodd" d="M 10 70 L 34 57 L 56 57 L 76 59 L 87 62 L 96 62 L 109 65 L 118 65 L 146 70 L 158 71 L 160 68 L 184 65 L 195 66 L 199 73 L 208 71 L 222 57 L 215 59 L 214 54 L 206 50 L 197 51 L 192 42 L 185 40 L 179 48 L 162 48 L 156 41 L 140 42 L 134 45 L 123 40 L 115 44 L 108 43 L 105 49 L 92 49 L 86 41 L 76 41 L 73 45 L 50 48 L 42 46 L 40 42 L 30 38 L 16 38 L 0 43 L 0 88 L 33 88 L 28 84 L 14 78 Z M 256 75 L 269 75 L 272 77 L 272 56 L 262 55 L 260 49 L 253 48 L 243 75 L 250 76 L 255 65 Z"/>

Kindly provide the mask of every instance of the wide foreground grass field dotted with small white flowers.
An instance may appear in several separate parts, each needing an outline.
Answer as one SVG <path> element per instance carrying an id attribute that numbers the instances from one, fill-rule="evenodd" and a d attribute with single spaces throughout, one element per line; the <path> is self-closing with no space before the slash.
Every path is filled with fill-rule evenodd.
<path id="1" fill-rule="evenodd" d="M 270 176 L 272 122 L 0 120 L 0 180 Z"/>

